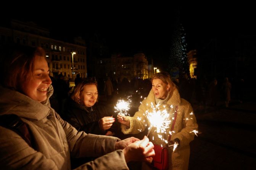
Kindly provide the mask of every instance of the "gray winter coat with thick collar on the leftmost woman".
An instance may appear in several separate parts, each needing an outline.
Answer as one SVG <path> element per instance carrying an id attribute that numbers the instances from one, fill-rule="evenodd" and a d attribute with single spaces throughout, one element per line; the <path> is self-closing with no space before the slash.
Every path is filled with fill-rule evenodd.
<path id="1" fill-rule="evenodd" d="M 52 93 L 50 86 L 48 98 Z M 70 156 L 102 156 L 79 170 L 128 169 L 122 150 L 114 151 L 118 138 L 77 132 L 51 108 L 48 98 L 40 103 L 0 87 L 0 115 L 18 115 L 29 126 L 34 143 L 31 148 L 16 132 L 0 126 L 1 169 L 69 170 Z"/>

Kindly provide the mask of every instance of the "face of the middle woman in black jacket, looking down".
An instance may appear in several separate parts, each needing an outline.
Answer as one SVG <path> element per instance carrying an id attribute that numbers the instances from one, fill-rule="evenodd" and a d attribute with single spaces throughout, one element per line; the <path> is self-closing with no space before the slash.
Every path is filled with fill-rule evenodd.
<path id="1" fill-rule="evenodd" d="M 80 92 L 80 100 L 86 107 L 92 107 L 98 98 L 98 90 L 95 84 L 88 84 Z"/>

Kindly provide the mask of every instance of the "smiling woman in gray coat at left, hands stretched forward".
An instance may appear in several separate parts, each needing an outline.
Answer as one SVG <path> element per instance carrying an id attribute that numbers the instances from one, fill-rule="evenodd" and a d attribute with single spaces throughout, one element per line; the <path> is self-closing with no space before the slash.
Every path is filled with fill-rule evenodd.
<path id="1" fill-rule="evenodd" d="M 128 169 L 130 160 L 151 160 L 153 144 L 143 140 L 77 132 L 53 110 L 49 68 L 42 48 L 0 49 L 0 115 L 16 114 L 29 127 L 32 146 L 0 126 L 1 169 L 69 170 L 70 157 L 101 156 L 77 169 Z"/>

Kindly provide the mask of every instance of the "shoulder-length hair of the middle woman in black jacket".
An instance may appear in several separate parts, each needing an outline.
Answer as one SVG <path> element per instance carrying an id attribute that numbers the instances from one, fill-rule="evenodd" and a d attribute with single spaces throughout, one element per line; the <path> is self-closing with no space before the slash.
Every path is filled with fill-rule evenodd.
<path id="1" fill-rule="evenodd" d="M 89 84 L 94 84 L 97 87 L 97 83 L 95 81 L 92 81 L 91 79 L 85 79 L 74 87 L 74 91 L 71 94 L 71 99 L 74 100 L 76 103 L 80 104 L 79 102 L 80 93 L 83 91 L 84 86 Z M 98 101 L 98 98 L 97 98 L 97 101 Z"/>

